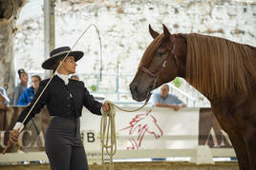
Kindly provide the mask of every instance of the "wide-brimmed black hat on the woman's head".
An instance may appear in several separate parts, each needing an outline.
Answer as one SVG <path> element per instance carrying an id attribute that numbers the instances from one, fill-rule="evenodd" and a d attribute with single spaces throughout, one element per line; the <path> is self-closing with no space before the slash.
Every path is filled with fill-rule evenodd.
<path id="1" fill-rule="evenodd" d="M 70 47 L 58 47 L 58 48 L 53 49 L 50 52 L 50 58 L 47 59 L 46 61 L 44 61 L 44 63 L 42 64 L 42 67 L 44 69 L 53 69 L 53 66 L 55 65 L 55 63 L 58 60 L 66 57 L 67 53 L 69 53 L 70 50 L 71 50 Z M 69 53 L 69 56 L 73 56 L 75 58 L 75 62 L 77 62 L 78 60 L 80 60 L 83 57 L 83 52 L 82 51 L 71 51 Z"/>

